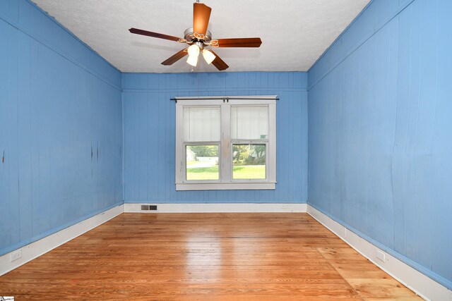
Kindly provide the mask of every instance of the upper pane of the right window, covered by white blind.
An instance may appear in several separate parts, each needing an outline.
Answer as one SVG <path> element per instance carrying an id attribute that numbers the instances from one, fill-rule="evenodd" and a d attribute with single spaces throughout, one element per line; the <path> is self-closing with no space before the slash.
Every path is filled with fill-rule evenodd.
<path id="1" fill-rule="evenodd" d="M 267 139 L 268 106 L 232 106 L 232 139 Z"/>

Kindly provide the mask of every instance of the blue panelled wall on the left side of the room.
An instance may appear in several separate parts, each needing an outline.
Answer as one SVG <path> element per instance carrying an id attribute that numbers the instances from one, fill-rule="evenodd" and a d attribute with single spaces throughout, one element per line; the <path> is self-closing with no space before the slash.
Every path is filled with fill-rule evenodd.
<path id="1" fill-rule="evenodd" d="M 118 70 L 0 1 L 0 254 L 121 202 L 121 118 Z"/>

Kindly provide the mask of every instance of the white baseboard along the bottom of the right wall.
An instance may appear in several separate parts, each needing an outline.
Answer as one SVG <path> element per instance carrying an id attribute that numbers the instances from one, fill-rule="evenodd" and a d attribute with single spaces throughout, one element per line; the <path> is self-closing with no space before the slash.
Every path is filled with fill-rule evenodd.
<path id="1" fill-rule="evenodd" d="M 347 242 L 350 247 L 357 250 L 364 257 L 373 262 L 380 269 L 386 271 L 397 281 L 403 283 L 407 288 L 410 288 L 413 292 L 425 300 L 441 300 L 441 301 L 451 301 L 452 291 L 448 290 L 444 285 L 437 283 L 432 278 L 425 276 L 420 271 L 412 268 L 408 264 L 400 261 L 391 254 L 384 252 L 379 247 L 371 244 L 364 238 L 361 238 L 357 234 L 348 230 L 340 223 L 334 221 L 329 216 L 326 216 L 321 211 L 307 205 L 307 213 L 314 219 L 319 221 L 323 226 L 331 230 L 335 235 L 338 235 L 340 239 Z M 384 254 L 384 262 L 380 258 L 381 254 Z"/>

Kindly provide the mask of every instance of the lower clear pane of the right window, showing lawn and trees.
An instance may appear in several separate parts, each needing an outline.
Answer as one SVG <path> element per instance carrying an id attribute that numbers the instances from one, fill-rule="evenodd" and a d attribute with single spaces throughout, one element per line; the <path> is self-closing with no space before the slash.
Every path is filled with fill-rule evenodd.
<path id="1" fill-rule="evenodd" d="M 232 145 L 233 179 L 266 178 L 266 145 Z"/>

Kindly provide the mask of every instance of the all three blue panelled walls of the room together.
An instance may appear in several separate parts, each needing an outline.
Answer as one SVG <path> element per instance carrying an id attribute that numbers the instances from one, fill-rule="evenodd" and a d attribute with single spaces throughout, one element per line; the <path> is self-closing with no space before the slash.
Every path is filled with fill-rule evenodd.
<path id="1" fill-rule="evenodd" d="M 123 197 L 304 203 L 309 190 L 312 206 L 452 288 L 450 16 L 449 0 L 374 0 L 309 82 L 288 72 L 121 77 L 34 4 L 0 1 L 0 254 Z M 259 94 L 280 97 L 277 189 L 176 192 L 169 99 Z"/>

